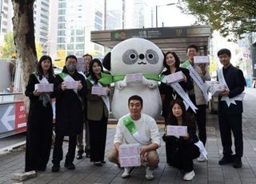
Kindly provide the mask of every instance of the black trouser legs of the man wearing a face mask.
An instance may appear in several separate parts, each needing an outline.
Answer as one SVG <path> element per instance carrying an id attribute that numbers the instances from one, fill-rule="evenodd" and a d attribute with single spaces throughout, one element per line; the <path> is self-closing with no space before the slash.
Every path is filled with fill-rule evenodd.
<path id="1" fill-rule="evenodd" d="M 63 143 L 64 135 L 56 134 L 55 135 L 55 142 L 54 142 L 54 155 L 52 162 L 54 164 L 59 164 L 63 158 L 63 150 L 62 150 L 62 143 Z M 70 135 L 69 136 L 69 148 L 66 153 L 66 161 L 65 162 L 73 162 L 74 161 L 74 154 L 75 154 L 75 146 L 77 142 L 77 135 Z"/>

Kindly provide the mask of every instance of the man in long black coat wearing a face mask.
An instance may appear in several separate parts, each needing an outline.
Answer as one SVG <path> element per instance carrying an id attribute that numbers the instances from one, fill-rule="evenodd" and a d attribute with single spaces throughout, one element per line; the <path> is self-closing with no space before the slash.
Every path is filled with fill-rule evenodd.
<path id="1" fill-rule="evenodd" d="M 56 75 L 54 93 L 56 95 L 56 124 L 52 172 L 58 172 L 63 157 L 62 142 L 64 136 L 69 136 L 69 148 L 66 154 L 65 167 L 74 170 L 74 154 L 77 134 L 82 133 L 83 112 L 82 98 L 86 97 L 86 80 L 76 70 L 77 58 L 74 55 L 66 57 L 62 73 Z M 80 81 L 75 90 L 68 89 L 66 82 Z"/>

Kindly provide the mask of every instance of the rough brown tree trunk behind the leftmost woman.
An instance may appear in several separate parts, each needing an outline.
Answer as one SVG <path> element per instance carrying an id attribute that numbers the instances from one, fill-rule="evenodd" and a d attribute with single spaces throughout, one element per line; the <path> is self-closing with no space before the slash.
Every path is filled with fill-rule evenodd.
<path id="1" fill-rule="evenodd" d="M 34 0 L 12 0 L 14 6 L 14 44 L 22 69 L 24 93 L 29 76 L 36 69 L 37 54 L 34 44 Z M 25 98 L 26 114 L 29 100 Z"/>

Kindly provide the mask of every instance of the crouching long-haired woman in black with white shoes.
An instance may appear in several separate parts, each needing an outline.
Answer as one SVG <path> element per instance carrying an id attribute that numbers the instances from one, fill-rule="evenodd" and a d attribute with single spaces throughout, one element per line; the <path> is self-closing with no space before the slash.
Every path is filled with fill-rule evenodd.
<path id="1" fill-rule="evenodd" d="M 170 104 L 170 114 L 166 119 L 166 126 L 187 126 L 187 135 L 178 138 L 173 135 L 167 135 L 166 131 L 162 139 L 169 142 L 168 154 L 170 166 L 177 167 L 185 172 L 184 180 L 194 178 L 193 159 L 198 158 L 200 151 L 194 143 L 198 142 L 196 135 L 196 123 L 192 115 L 186 113 L 186 107 L 182 100 L 175 99 Z M 165 129 L 166 130 L 166 129 Z M 167 153 L 166 153 L 167 154 Z"/>

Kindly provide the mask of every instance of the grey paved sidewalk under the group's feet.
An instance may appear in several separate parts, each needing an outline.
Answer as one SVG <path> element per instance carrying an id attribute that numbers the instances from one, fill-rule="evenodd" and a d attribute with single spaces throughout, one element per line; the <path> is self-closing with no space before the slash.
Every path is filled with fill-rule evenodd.
<path id="1" fill-rule="evenodd" d="M 209 154 L 208 162 L 194 161 L 196 176 L 192 182 L 184 182 L 183 174 L 177 169 L 166 165 L 165 145 L 158 149 L 160 163 L 154 170 L 154 180 L 146 181 L 145 168 L 138 167 L 132 177 L 122 179 L 122 170 L 118 166 L 106 161 L 102 167 L 94 166 L 89 158 L 74 160 L 75 170 L 66 170 L 64 161 L 61 162 L 61 170 L 51 173 L 51 162 L 48 163 L 46 172 L 39 172 L 36 178 L 31 178 L 23 183 L 230 183 L 253 184 L 256 183 L 256 89 L 246 89 L 243 113 L 243 140 L 244 156 L 242 168 L 234 169 L 232 165 L 219 166 L 218 160 L 222 157 L 222 143 L 218 130 L 218 118 L 216 114 L 207 114 L 207 142 L 206 150 Z M 162 133 L 162 126 L 160 127 Z M 107 131 L 106 153 L 113 146 L 114 126 Z M 66 154 L 66 143 L 64 143 Z M 0 154 L 0 183 L 18 183 L 11 179 L 13 173 L 24 170 L 24 150 Z"/>

